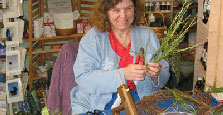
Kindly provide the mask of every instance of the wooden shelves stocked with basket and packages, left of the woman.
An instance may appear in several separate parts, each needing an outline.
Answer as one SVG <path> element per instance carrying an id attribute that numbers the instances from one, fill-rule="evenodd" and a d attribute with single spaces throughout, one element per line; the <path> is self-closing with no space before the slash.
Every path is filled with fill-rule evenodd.
<path id="1" fill-rule="evenodd" d="M 58 53 L 60 48 L 56 48 L 52 44 L 47 44 L 54 41 L 60 41 L 62 43 L 67 43 L 71 41 L 79 41 L 80 38 L 84 35 L 84 32 L 87 31 L 88 26 L 84 26 L 86 29 L 84 32 L 76 33 L 77 30 L 77 21 L 73 19 L 77 19 L 77 17 L 84 17 L 82 18 L 83 21 L 86 19 L 89 13 L 82 13 L 75 11 L 72 12 L 72 6 L 74 8 L 86 9 L 86 5 L 80 4 L 87 4 L 88 6 L 94 5 L 95 2 L 85 1 L 80 2 L 80 4 L 76 4 L 76 2 L 71 2 L 69 0 L 61 0 L 58 1 L 59 3 L 56 4 L 55 1 L 57 0 L 49 0 L 49 1 L 32 1 L 29 0 L 29 43 L 28 51 L 29 51 L 29 81 L 30 81 L 30 90 L 33 88 L 33 83 L 35 80 L 40 79 L 41 77 L 37 75 L 35 71 L 36 67 L 43 66 L 46 61 L 55 60 L 56 56 L 52 56 L 52 53 Z M 34 4 L 35 2 L 35 4 Z M 33 4 L 33 5 L 30 5 Z M 49 6 L 49 7 L 46 7 Z M 63 10 L 61 10 L 61 8 Z M 73 9 L 73 10 L 76 10 Z M 87 8 L 87 10 L 91 10 L 93 8 Z M 49 12 L 47 12 L 49 11 Z M 57 12 L 57 15 L 53 15 L 52 12 Z M 61 16 L 61 15 L 63 16 Z M 33 23 L 34 20 L 43 17 L 43 36 L 33 36 Z M 55 24 L 56 19 L 56 24 Z M 78 18 L 79 19 L 79 18 Z M 69 21 L 69 23 L 68 23 Z M 70 23 L 72 22 L 72 23 Z M 56 26 L 55 26 L 56 25 Z M 68 29 L 67 29 L 68 28 Z M 55 33 L 56 32 L 56 33 Z M 34 32 L 35 33 L 35 32 Z M 55 35 L 56 34 L 56 35 Z M 38 43 L 36 43 L 38 42 Z M 45 45 L 47 44 L 47 47 Z M 54 47 L 54 48 L 53 48 Z M 50 48 L 50 49 L 47 49 Z M 47 50 L 43 50 L 47 49 Z"/>

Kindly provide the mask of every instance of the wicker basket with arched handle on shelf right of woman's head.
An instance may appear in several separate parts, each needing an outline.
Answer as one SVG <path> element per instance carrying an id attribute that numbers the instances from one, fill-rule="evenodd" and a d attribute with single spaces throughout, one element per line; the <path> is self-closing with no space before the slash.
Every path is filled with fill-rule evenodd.
<path id="1" fill-rule="evenodd" d="M 149 20 L 149 16 L 151 15 L 151 14 L 159 14 L 159 15 L 161 15 L 161 17 L 162 17 L 162 22 L 163 22 L 163 26 L 161 26 L 161 27 L 150 27 L 151 29 L 153 29 L 154 31 L 155 31 L 155 33 L 156 33 L 156 35 L 157 35 L 157 37 L 158 38 L 163 38 L 163 37 L 165 37 L 165 31 L 166 31 L 166 29 L 167 29 L 167 27 L 165 26 L 165 24 L 164 24 L 164 15 L 163 15 L 163 13 L 162 12 L 146 12 L 145 13 L 145 21 L 146 22 L 148 22 L 148 20 Z"/>

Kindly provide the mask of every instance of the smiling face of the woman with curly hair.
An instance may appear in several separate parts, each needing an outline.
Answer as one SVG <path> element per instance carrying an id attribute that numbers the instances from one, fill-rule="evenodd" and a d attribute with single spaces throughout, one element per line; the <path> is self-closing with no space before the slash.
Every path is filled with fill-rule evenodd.
<path id="1" fill-rule="evenodd" d="M 134 20 L 134 4 L 131 0 L 122 0 L 108 11 L 112 29 L 126 30 Z"/>

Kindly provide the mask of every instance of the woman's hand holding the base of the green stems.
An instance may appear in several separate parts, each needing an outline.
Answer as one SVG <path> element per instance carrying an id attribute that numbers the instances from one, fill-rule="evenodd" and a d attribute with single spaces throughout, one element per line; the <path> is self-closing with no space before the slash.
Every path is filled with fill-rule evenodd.
<path id="1" fill-rule="evenodd" d="M 150 77 L 158 77 L 162 68 L 162 65 L 159 63 L 149 62 L 147 63 L 147 75 Z"/>

